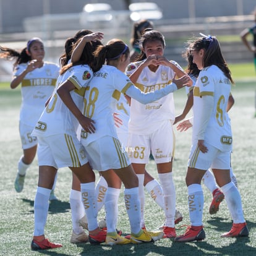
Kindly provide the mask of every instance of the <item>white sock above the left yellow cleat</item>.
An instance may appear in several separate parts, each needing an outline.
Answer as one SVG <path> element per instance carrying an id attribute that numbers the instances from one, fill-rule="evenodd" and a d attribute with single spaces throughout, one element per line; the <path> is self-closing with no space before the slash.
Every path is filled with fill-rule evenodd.
<path id="1" fill-rule="evenodd" d="M 108 187 L 108 190 L 106 191 L 105 210 L 108 233 L 116 232 L 119 194 L 120 189 L 114 189 L 113 187 Z"/>

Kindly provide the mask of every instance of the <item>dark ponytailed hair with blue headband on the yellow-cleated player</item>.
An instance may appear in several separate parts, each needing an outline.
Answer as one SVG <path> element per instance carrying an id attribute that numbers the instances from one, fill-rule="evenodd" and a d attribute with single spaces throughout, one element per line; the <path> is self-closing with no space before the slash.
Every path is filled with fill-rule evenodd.
<path id="1" fill-rule="evenodd" d="M 113 39 L 108 42 L 108 45 L 98 46 L 94 52 L 95 60 L 93 64 L 93 71 L 96 72 L 101 69 L 103 64 L 109 64 L 110 61 L 118 61 L 121 55 L 124 54 L 129 58 L 130 49 L 122 40 Z"/>

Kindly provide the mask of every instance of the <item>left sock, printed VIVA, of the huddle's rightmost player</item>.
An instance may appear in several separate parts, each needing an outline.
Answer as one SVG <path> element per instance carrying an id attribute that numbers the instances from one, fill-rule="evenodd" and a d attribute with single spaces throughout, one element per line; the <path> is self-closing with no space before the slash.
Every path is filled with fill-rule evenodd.
<path id="1" fill-rule="evenodd" d="M 203 190 L 200 184 L 192 184 L 187 187 L 189 196 L 189 217 L 191 226 L 203 225 Z"/>

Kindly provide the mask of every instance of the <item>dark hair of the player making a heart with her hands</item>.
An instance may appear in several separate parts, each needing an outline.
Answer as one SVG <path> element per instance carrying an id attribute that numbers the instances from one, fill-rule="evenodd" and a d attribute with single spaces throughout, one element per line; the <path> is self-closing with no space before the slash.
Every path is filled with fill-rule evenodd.
<path id="1" fill-rule="evenodd" d="M 157 30 L 152 30 L 151 28 L 145 29 L 144 33 L 142 35 L 142 38 L 140 38 L 139 44 L 140 48 L 145 48 L 145 45 L 148 41 L 160 41 L 163 45 L 163 48 L 165 47 L 165 40 L 162 33 L 160 33 Z M 143 61 L 143 59 L 147 59 L 146 54 L 142 51 L 139 56 L 136 58 L 135 61 Z"/>

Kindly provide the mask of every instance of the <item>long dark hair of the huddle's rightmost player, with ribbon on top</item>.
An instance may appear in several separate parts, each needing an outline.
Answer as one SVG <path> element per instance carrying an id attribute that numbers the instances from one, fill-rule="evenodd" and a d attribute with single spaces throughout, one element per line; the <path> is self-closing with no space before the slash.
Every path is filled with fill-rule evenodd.
<path id="1" fill-rule="evenodd" d="M 228 77 L 231 83 L 234 84 L 234 80 L 231 77 L 231 71 L 228 64 L 225 61 L 223 54 L 221 53 L 220 43 L 215 36 L 202 36 L 195 38 L 191 43 L 191 48 L 195 51 L 205 49 L 203 56 L 203 67 L 215 65 L 221 69 L 221 71 Z"/>

